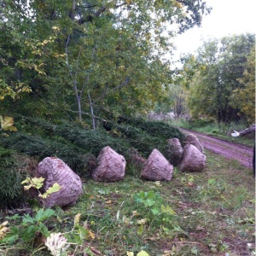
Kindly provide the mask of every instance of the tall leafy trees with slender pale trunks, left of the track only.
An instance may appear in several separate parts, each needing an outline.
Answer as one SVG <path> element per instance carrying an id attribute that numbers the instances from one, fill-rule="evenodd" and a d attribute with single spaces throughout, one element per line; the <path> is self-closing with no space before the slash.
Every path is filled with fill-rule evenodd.
<path id="1" fill-rule="evenodd" d="M 19 67 L 26 74 L 21 83 L 32 90 L 29 101 L 16 101 L 15 109 L 48 117 L 57 109 L 79 119 L 90 115 L 94 129 L 96 116 L 104 113 L 146 112 L 167 84 L 161 56 L 172 51 L 169 25 L 184 32 L 200 26 L 201 16 L 209 12 L 203 1 L 14 2 L 2 24 L 9 23 L 9 31 L 16 26 L 26 40 L 19 41 L 22 54 L 8 67 L 12 72 Z M 23 15 L 22 26 L 14 18 L 17 13 Z M 15 49 L 8 61 L 9 55 Z"/>

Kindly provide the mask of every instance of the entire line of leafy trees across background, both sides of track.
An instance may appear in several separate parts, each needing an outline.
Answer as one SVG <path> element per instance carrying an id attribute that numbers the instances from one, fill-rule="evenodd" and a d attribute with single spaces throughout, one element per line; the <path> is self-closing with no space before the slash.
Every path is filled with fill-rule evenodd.
<path id="1" fill-rule="evenodd" d="M 90 119 L 94 130 L 159 108 L 250 119 L 253 35 L 206 42 L 180 70 L 164 57 L 210 11 L 183 0 L 1 1 L 0 113 Z"/>

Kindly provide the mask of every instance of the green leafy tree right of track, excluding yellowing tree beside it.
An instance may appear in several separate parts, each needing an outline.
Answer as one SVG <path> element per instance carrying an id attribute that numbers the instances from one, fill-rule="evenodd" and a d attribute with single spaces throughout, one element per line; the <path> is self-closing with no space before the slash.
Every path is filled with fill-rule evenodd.
<path id="1" fill-rule="evenodd" d="M 189 84 L 189 109 L 195 117 L 206 115 L 218 122 L 240 119 L 234 108 L 234 90 L 241 89 L 247 56 L 255 45 L 252 34 L 205 42 L 198 50 L 198 69 Z"/>

